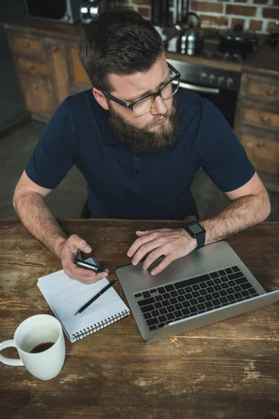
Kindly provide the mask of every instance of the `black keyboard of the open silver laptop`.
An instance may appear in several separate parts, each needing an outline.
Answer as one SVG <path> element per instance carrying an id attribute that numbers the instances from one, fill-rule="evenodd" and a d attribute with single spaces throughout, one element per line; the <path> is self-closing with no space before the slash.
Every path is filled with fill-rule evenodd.
<path id="1" fill-rule="evenodd" d="M 238 266 L 135 293 L 149 330 L 259 295 Z"/>

